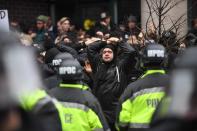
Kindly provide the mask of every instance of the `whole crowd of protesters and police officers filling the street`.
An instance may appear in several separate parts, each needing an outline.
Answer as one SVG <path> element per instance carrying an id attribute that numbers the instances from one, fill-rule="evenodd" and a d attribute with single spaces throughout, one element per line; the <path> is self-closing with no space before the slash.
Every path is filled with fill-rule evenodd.
<path id="1" fill-rule="evenodd" d="M 88 31 L 44 15 L 10 30 L 0 31 L 3 131 L 196 129 L 197 19 L 181 42 L 143 32 L 133 15 L 112 24 L 106 12 Z"/>

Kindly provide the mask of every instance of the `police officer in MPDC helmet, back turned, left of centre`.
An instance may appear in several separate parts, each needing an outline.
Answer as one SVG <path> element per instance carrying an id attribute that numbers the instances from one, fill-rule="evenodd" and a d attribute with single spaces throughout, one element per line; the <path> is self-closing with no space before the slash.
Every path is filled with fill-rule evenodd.
<path id="1" fill-rule="evenodd" d="M 60 101 L 58 110 L 64 130 L 109 130 L 96 98 L 81 83 L 82 67 L 76 59 L 64 59 L 58 68 L 62 79 L 50 94 Z"/>

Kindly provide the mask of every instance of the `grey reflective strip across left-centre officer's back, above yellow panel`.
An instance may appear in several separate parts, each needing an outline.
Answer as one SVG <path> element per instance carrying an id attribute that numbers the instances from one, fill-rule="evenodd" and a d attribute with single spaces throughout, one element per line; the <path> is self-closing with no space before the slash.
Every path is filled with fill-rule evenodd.
<path id="1" fill-rule="evenodd" d="M 79 104 L 79 103 L 72 103 L 72 102 L 60 102 L 60 103 L 66 108 L 77 108 L 77 109 L 81 109 L 83 111 L 89 110 L 89 107 L 87 107 L 83 104 Z"/>

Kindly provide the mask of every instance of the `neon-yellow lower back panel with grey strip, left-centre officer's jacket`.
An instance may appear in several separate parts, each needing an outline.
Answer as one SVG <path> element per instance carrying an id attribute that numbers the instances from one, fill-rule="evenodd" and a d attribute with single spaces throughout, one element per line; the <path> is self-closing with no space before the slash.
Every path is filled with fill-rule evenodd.
<path id="1" fill-rule="evenodd" d="M 103 131 L 97 114 L 81 104 L 53 100 L 59 112 L 62 131 Z M 67 105 L 68 104 L 68 105 Z"/>

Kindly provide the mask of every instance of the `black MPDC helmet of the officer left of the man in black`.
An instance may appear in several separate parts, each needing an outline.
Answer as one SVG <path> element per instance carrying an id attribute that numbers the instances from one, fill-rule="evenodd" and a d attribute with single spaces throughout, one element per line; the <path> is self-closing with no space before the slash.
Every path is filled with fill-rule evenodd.
<path id="1" fill-rule="evenodd" d="M 58 68 L 58 75 L 63 81 L 82 80 L 83 68 L 76 59 L 63 60 Z"/>

